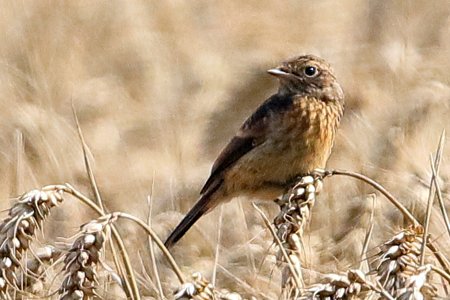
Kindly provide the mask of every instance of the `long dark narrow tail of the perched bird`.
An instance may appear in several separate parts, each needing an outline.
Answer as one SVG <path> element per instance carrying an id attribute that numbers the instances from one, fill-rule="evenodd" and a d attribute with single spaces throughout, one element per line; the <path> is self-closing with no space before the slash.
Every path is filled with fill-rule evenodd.
<path id="1" fill-rule="evenodd" d="M 187 213 L 187 215 L 181 220 L 180 224 L 172 231 L 164 245 L 166 248 L 171 248 L 179 239 L 183 237 L 183 235 L 189 230 L 189 228 L 194 225 L 194 223 L 200 219 L 205 213 L 207 213 L 211 208 L 216 206 L 217 203 L 213 203 L 215 201 L 211 201 L 211 196 L 215 191 L 220 187 L 222 182 L 218 182 L 217 184 L 211 186 L 203 195 L 200 196 L 200 199 L 191 208 L 191 210 Z"/>

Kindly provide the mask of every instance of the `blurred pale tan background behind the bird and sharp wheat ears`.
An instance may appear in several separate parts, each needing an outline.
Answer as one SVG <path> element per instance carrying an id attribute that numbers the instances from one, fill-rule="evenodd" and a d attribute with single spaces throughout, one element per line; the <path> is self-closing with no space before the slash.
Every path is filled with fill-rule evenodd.
<path id="1" fill-rule="evenodd" d="M 333 65 L 346 93 L 328 167 L 372 177 L 423 218 L 429 154 L 450 131 L 446 0 L 1 1 L 0 37 L 3 209 L 47 184 L 69 182 L 92 196 L 73 102 L 108 209 L 145 219 L 150 196 L 153 226 L 165 238 L 221 148 L 276 91 L 266 70 L 311 53 Z M 440 169 L 447 199 L 448 149 Z M 306 246 L 311 276 L 359 264 L 373 192 L 349 178 L 326 180 Z M 216 209 L 180 242 L 174 255 L 186 274 L 211 276 L 220 230 L 217 284 L 278 295 L 272 239 L 255 200 Z M 376 203 L 371 248 L 403 225 L 382 197 Z M 70 199 L 46 232 L 69 236 L 92 217 Z M 439 238 L 438 214 L 433 221 Z M 146 257 L 143 232 L 120 225 Z M 173 288 L 173 273 L 161 266 Z"/>

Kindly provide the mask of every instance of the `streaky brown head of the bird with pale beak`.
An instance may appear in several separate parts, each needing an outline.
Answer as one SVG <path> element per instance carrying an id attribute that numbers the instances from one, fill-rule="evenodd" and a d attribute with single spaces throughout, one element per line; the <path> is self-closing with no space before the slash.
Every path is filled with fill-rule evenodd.
<path id="1" fill-rule="evenodd" d="M 280 93 L 307 94 L 324 101 L 344 97 L 331 66 L 314 55 L 294 57 L 267 72 L 280 80 Z"/>

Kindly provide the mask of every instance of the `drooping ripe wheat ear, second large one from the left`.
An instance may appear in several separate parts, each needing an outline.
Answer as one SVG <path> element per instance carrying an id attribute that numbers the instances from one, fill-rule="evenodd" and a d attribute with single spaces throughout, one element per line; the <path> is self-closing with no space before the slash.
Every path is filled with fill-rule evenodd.
<path id="1" fill-rule="evenodd" d="M 106 226 L 117 219 L 116 214 L 102 216 L 81 227 L 64 259 L 64 280 L 59 289 L 60 299 L 90 299 L 97 297 L 97 265 L 105 242 Z"/>

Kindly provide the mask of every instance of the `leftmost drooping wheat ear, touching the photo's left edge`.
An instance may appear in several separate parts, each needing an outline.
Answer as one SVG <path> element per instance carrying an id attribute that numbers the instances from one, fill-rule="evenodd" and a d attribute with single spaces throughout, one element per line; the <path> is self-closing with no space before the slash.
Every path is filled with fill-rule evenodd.
<path id="1" fill-rule="evenodd" d="M 23 194 L 0 224 L 0 297 L 8 298 L 9 288 L 19 289 L 15 271 L 51 208 L 63 201 L 63 191 L 64 186 L 47 186 Z"/>

